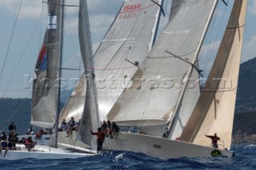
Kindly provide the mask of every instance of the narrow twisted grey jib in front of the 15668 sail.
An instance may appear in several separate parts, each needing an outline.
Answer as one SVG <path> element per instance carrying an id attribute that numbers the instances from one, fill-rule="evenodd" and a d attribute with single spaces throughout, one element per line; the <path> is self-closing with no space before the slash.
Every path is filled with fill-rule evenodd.
<path id="1" fill-rule="evenodd" d="M 79 4 L 79 42 L 82 57 L 85 59 L 84 65 L 87 87 L 86 103 L 82 112 L 82 119 L 79 125 L 79 134 L 83 142 L 89 144 L 94 150 L 96 150 L 96 142 L 94 141 L 94 138 L 90 135 L 90 130 L 93 130 L 95 132 L 99 127 L 98 100 L 95 89 L 94 62 L 90 39 L 90 23 L 86 0 L 80 0 Z"/>

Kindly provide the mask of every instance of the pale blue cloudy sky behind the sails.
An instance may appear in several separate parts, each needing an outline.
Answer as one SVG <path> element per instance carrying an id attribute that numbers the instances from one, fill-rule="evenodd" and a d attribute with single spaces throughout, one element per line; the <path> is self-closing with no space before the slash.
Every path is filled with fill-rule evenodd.
<path id="1" fill-rule="evenodd" d="M 46 1 L 46 0 L 45 0 Z M 171 0 L 165 0 L 166 3 Z M 93 49 L 97 49 L 102 38 L 114 21 L 123 0 L 87 0 L 90 13 L 90 30 Z M 234 0 L 226 0 L 232 4 Z M 66 0 L 68 5 L 78 5 L 78 0 Z M 20 8 L 19 8 L 20 7 Z M 0 0 L 0 98 L 31 97 L 34 66 L 42 45 L 47 24 L 47 5 L 42 0 Z M 210 27 L 211 36 L 219 36 L 220 27 L 228 18 L 230 6 L 218 4 L 215 25 Z M 221 14 L 226 11 L 226 15 Z M 18 18 L 17 18 L 18 15 Z M 79 78 L 82 75 L 82 61 L 78 46 L 78 7 L 66 8 L 63 67 L 81 69 L 63 71 L 66 77 Z M 16 20 L 17 18 L 17 20 Z M 222 20 L 222 18 L 224 18 Z M 207 49 L 217 49 L 218 38 L 208 40 L 203 45 L 202 54 Z M 208 40 L 208 41 L 207 41 Z M 241 61 L 256 57 L 256 1 L 248 0 L 246 30 Z M 70 86 L 72 87 L 72 82 Z M 73 85 L 74 86 L 74 85 Z"/>

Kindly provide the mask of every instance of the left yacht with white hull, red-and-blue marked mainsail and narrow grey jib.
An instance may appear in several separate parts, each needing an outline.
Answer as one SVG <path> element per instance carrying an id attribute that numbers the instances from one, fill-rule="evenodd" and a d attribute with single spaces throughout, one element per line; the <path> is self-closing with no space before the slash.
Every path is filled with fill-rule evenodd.
<path id="1" fill-rule="evenodd" d="M 64 22 L 64 1 L 49 0 L 49 24 L 46 29 L 42 49 L 38 55 L 38 62 L 35 68 L 34 87 L 32 94 L 32 114 L 30 124 L 40 128 L 54 128 L 53 135 L 44 134 L 37 141 L 35 147 L 28 151 L 24 144 L 17 144 L 17 150 L 9 150 L 1 152 L 3 159 L 16 160 L 24 158 L 37 159 L 64 159 L 78 158 L 84 156 L 94 156 L 97 154 L 94 144 L 96 140 L 90 137 L 88 143 L 84 144 L 78 139 L 79 132 L 83 132 L 84 128 L 79 127 L 78 132 L 72 132 L 70 138 L 63 140 L 66 132 L 58 132 L 58 113 L 60 80 L 62 69 L 62 41 L 63 41 L 63 22 Z M 81 45 L 82 58 L 86 68 L 92 68 L 92 52 L 90 42 L 90 26 L 88 19 L 88 11 L 86 1 L 81 0 L 79 3 L 79 38 Z M 89 70 L 89 69 L 88 69 Z M 86 72 L 93 74 L 93 69 Z M 55 85 L 55 83 L 57 85 Z M 56 88 L 57 87 L 57 88 Z M 94 112 L 95 119 L 90 122 L 90 129 L 96 130 L 98 127 L 97 102 L 94 100 L 94 89 L 86 90 L 85 107 L 90 105 L 91 112 Z M 86 112 L 85 117 L 89 117 L 91 113 Z M 23 136 L 19 136 L 21 139 Z M 28 136 L 25 136 L 26 138 Z"/>

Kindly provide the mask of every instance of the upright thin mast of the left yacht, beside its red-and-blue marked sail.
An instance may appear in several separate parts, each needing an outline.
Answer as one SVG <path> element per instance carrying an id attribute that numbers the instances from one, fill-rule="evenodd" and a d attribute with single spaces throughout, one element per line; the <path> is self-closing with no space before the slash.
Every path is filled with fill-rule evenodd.
<path id="1" fill-rule="evenodd" d="M 55 113 L 55 124 L 54 124 L 54 129 L 55 129 L 55 139 L 54 139 L 54 148 L 58 148 L 58 113 L 60 113 L 60 95 L 61 95 L 61 78 L 62 78 L 62 53 L 63 53 L 63 30 L 64 30 L 64 5 L 65 5 L 65 0 L 62 0 L 59 4 L 62 6 L 60 8 L 60 25 L 58 26 L 59 30 L 59 53 L 58 53 L 58 90 L 57 90 L 57 109 Z"/>

